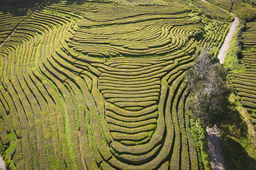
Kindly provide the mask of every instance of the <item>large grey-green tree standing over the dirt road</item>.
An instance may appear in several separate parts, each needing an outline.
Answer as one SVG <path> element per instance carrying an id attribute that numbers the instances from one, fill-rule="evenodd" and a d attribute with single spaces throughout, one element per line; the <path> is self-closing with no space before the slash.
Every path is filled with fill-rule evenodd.
<path id="1" fill-rule="evenodd" d="M 191 118 L 201 119 L 205 126 L 212 127 L 227 116 L 231 93 L 228 70 L 220 63 L 214 64 L 207 51 L 195 63 L 185 76 L 190 92 L 186 107 Z"/>

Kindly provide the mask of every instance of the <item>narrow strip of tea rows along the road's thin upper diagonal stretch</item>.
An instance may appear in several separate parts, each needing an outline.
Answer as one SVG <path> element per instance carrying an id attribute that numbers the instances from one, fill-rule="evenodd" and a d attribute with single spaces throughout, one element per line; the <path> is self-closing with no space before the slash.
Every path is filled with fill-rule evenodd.
<path id="1" fill-rule="evenodd" d="M 206 17 L 210 17 L 213 19 L 217 19 L 224 22 L 229 22 L 232 19 L 232 16 L 226 12 L 221 10 L 220 8 L 216 8 L 212 4 L 204 2 L 202 0 L 193 1 L 197 8 L 202 10 L 202 13 L 205 14 Z"/>

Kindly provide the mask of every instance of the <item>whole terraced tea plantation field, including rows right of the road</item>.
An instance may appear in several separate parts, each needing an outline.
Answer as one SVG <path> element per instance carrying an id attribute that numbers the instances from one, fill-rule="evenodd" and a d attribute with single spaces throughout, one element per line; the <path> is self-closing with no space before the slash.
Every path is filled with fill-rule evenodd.
<path id="1" fill-rule="evenodd" d="M 200 51 L 217 52 L 231 20 L 200 0 L 39 0 L 0 8 L 6 165 L 198 170 L 183 78 Z M 253 52 L 244 51 L 248 73 L 256 67 Z M 241 95 L 250 83 L 240 79 L 255 81 L 247 72 L 233 76 Z M 251 98 L 245 101 L 255 105 Z"/>

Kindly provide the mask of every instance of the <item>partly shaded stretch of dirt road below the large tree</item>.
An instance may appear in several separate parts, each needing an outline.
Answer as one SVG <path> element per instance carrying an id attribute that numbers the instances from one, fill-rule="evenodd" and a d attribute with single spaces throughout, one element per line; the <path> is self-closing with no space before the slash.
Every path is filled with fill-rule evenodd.
<path id="1" fill-rule="evenodd" d="M 207 127 L 206 134 L 208 140 L 207 151 L 210 153 L 212 170 L 228 170 L 227 162 L 221 146 L 219 128 L 216 125 L 212 128 Z"/>

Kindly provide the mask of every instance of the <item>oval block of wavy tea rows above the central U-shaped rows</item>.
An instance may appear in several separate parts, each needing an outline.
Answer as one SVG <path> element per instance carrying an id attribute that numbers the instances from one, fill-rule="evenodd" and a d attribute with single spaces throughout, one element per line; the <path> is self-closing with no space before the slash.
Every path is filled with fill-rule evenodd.
<path id="1" fill-rule="evenodd" d="M 166 22 L 168 21 L 171 20 L 167 19 Z M 130 30 L 133 24 L 127 24 L 122 26 L 123 32 L 120 31 L 120 26 L 81 29 L 73 35 L 73 41 L 68 45 L 75 51 L 97 57 L 163 54 L 184 46 L 194 30 L 199 29 L 196 25 L 173 27 L 165 23 L 140 24 L 146 26 L 143 28 L 138 25 L 133 28 L 135 30 Z M 112 31 L 108 32 L 109 30 Z M 98 32 L 102 34 L 96 34 Z"/>

